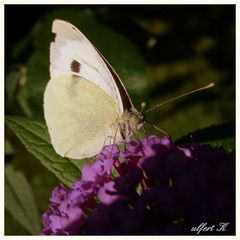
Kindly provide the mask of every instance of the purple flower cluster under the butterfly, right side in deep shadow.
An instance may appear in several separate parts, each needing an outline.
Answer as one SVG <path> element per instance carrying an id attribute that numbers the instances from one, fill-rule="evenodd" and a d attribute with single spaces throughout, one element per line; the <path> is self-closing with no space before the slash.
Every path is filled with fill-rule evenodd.
<path id="1" fill-rule="evenodd" d="M 53 190 L 43 235 L 196 234 L 202 223 L 234 234 L 233 153 L 156 136 L 125 148 L 104 147 L 72 189 Z"/>

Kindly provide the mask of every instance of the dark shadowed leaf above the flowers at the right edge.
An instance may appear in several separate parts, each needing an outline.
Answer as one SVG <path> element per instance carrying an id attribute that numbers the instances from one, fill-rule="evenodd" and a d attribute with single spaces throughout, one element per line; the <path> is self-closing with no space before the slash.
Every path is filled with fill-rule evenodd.
<path id="1" fill-rule="evenodd" d="M 234 121 L 229 121 L 197 130 L 181 137 L 176 141 L 176 144 L 189 141 L 211 144 L 214 147 L 223 147 L 230 152 L 235 149 L 235 123 Z"/>

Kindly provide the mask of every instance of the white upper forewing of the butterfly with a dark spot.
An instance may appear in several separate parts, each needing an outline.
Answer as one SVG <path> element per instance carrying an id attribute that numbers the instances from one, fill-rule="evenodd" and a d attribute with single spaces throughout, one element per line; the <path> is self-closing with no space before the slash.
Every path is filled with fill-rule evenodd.
<path id="1" fill-rule="evenodd" d="M 121 80 L 90 41 L 72 24 L 54 20 L 55 41 L 50 48 L 51 78 L 72 73 L 95 83 L 118 104 L 120 113 L 132 106 Z"/>

